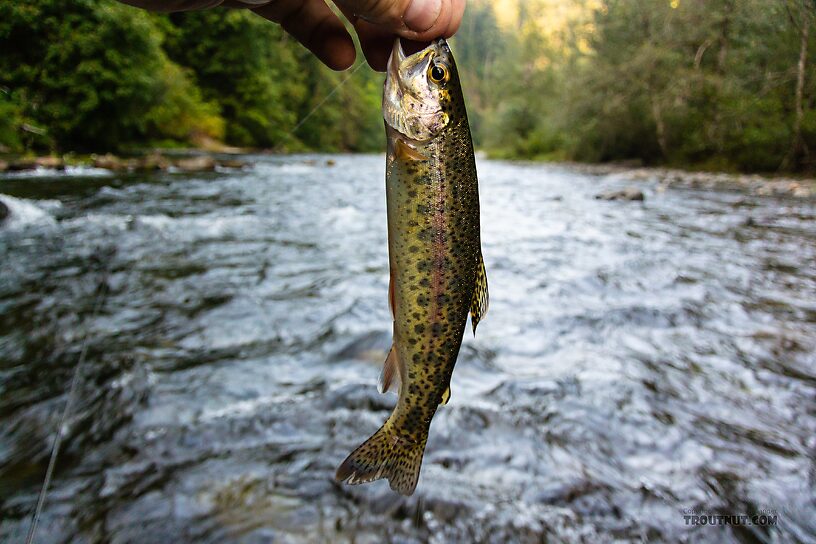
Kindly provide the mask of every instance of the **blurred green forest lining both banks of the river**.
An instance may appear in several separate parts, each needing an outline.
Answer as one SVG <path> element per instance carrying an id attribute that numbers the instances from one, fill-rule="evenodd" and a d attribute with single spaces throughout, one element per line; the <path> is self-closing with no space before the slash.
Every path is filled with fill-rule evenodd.
<path id="1" fill-rule="evenodd" d="M 471 0 L 451 44 L 489 156 L 811 172 L 815 17 L 816 0 Z M 382 74 L 332 72 L 247 11 L 4 2 L 0 50 L 0 152 L 384 145 Z"/>

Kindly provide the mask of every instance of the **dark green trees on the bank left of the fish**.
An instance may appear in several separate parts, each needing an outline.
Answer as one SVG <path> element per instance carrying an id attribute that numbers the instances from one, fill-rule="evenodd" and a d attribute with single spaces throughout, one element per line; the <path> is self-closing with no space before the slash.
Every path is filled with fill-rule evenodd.
<path id="1" fill-rule="evenodd" d="M 109 0 L 6 2 L 0 49 L 0 144 L 9 149 L 202 137 L 293 150 L 381 146 L 380 76 L 363 70 L 329 96 L 345 76 L 248 11 L 166 16 Z"/>

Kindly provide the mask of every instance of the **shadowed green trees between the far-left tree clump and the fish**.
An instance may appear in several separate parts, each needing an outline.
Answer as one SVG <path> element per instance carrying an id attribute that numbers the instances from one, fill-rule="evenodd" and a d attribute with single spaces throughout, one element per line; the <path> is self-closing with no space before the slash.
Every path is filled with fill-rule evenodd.
<path id="1" fill-rule="evenodd" d="M 354 151 L 381 145 L 381 87 L 371 85 L 371 72 L 335 90 L 346 74 L 327 69 L 280 27 L 248 11 L 170 15 L 165 48 L 218 104 L 227 143 Z"/>

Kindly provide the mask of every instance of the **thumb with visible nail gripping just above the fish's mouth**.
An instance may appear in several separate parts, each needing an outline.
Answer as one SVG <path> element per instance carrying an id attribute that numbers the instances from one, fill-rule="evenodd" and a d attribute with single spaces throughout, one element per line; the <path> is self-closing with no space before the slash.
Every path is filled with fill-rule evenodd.
<path id="1" fill-rule="evenodd" d="M 434 34 L 441 35 L 447 30 L 450 20 L 450 0 L 335 0 L 335 2 L 344 12 L 350 12 L 357 18 L 406 38 L 419 36 L 431 38 L 435 37 Z"/>

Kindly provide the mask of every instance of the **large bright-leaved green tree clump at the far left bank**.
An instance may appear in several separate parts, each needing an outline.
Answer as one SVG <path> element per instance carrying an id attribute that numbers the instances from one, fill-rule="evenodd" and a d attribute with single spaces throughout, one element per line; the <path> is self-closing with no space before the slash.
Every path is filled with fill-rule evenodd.
<path id="1" fill-rule="evenodd" d="M 6 2 L 0 84 L 59 149 L 115 149 L 180 127 L 217 134 L 161 39 L 150 16 L 114 2 Z"/>

